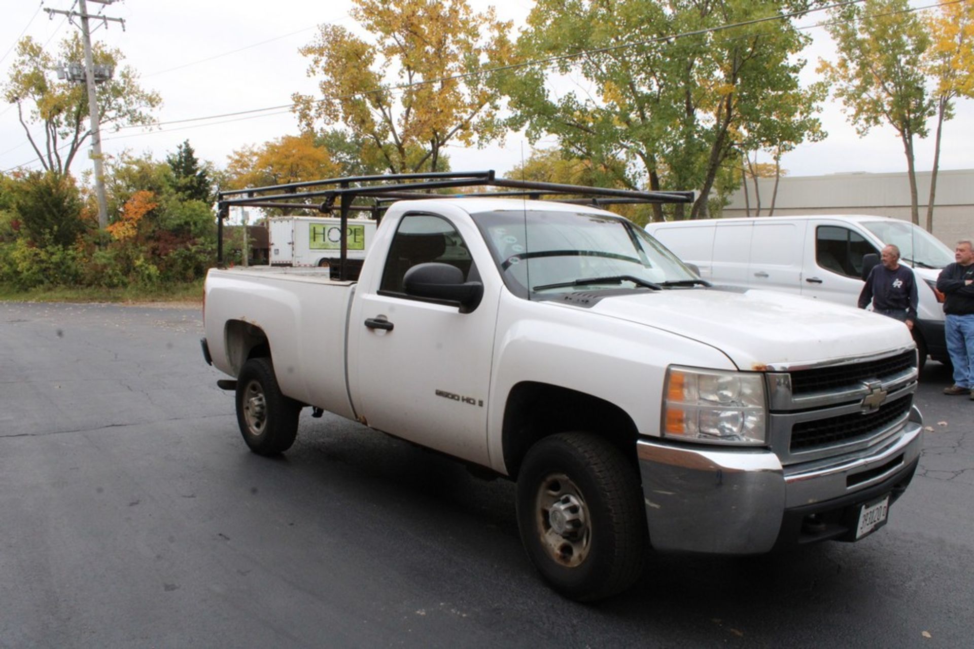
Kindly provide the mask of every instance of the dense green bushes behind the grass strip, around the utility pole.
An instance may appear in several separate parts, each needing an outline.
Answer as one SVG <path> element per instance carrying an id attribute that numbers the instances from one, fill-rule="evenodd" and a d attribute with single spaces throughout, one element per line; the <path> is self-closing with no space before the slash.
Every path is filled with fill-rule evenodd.
<path id="1" fill-rule="evenodd" d="M 69 176 L 0 174 L 0 283 L 17 291 L 131 287 L 152 293 L 206 275 L 216 260 L 215 215 L 206 200 L 186 198 L 169 164 L 149 156 L 124 156 L 108 170 L 109 220 L 131 220 L 133 232 L 97 230 L 94 195 L 86 194 L 86 208 Z M 152 193 L 140 197 L 141 207 L 155 206 L 126 212 L 126 201 L 140 191 Z"/>

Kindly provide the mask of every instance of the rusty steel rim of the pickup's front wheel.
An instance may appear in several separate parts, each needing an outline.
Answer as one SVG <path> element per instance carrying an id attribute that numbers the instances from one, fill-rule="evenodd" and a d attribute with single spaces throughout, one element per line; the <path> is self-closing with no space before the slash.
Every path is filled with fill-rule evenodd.
<path id="1" fill-rule="evenodd" d="M 536 530 L 547 556 L 577 567 L 591 549 L 591 516 L 581 489 L 563 473 L 545 476 L 535 496 Z"/>

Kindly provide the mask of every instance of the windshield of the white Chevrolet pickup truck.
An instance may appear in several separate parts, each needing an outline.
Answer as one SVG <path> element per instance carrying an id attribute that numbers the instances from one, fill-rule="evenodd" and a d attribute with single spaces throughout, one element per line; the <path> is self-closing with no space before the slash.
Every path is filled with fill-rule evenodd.
<path id="1" fill-rule="evenodd" d="M 705 284 L 620 217 L 529 210 L 472 214 L 507 286 L 525 297 L 603 288 Z"/>

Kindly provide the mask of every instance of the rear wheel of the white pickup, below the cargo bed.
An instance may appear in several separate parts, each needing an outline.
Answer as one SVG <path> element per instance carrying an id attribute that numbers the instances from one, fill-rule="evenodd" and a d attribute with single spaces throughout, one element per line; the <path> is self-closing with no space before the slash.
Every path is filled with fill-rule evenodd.
<path id="1" fill-rule="evenodd" d="M 251 358 L 237 379 L 237 423 L 258 455 L 277 455 L 294 444 L 301 404 L 281 394 L 269 358 Z"/>

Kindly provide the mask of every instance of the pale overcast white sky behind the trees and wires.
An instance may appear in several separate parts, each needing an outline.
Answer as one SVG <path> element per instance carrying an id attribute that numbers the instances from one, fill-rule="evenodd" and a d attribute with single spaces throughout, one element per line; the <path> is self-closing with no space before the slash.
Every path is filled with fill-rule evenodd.
<path id="1" fill-rule="evenodd" d="M 934 1 L 914 4 L 924 6 Z M 472 0 L 470 4 L 477 10 L 494 4 L 500 18 L 521 24 L 533 2 Z M 15 44 L 24 28 L 24 35 L 33 36 L 41 43 L 50 40 L 48 48 L 52 51 L 69 30 L 76 29 L 65 23 L 62 16 L 49 19 L 43 10 L 38 12 L 40 5 L 40 0 L 3 2 L 0 80 L 6 80 L 15 58 L 15 53 L 8 53 L 8 48 Z M 72 0 L 44 2 L 44 6 L 59 10 L 70 9 L 71 5 Z M 157 90 L 162 95 L 164 104 L 156 112 L 159 121 L 186 120 L 288 104 L 294 91 L 315 93 L 315 82 L 305 75 L 308 63 L 297 50 L 312 40 L 319 23 L 335 22 L 354 27 L 353 19 L 348 16 L 349 6 L 348 0 L 327 3 L 309 0 L 124 0 L 105 7 L 104 14 L 125 18 L 126 30 L 111 22 L 108 29 L 97 29 L 94 39 L 121 49 L 126 55 L 124 63 L 141 74 L 143 87 Z M 94 2 L 89 3 L 92 13 L 100 7 Z M 812 16 L 816 18 L 805 18 L 802 24 L 813 24 L 824 18 L 823 14 Z M 824 29 L 812 28 L 808 33 L 815 42 L 805 52 L 809 61 L 803 76 L 805 81 L 814 79 L 817 57 L 828 56 L 834 51 Z M 269 39 L 275 40 L 261 44 Z M 974 142 L 971 139 L 974 101 L 958 102 L 956 108 L 955 120 L 947 123 L 945 128 L 940 165 L 945 169 L 974 168 Z M 246 144 L 260 144 L 283 134 L 297 133 L 294 116 L 289 111 L 277 112 L 277 115 L 233 122 L 225 122 L 227 118 L 223 118 L 223 124 L 194 122 L 162 126 L 150 132 L 140 129 L 112 132 L 109 127 L 102 131 L 102 148 L 106 154 L 118 154 L 124 149 L 134 153 L 151 152 L 161 160 L 174 152 L 179 143 L 189 139 L 199 158 L 224 166 L 227 156 Z M 840 106 L 831 99 L 820 118 L 829 137 L 787 155 L 783 167 L 791 175 L 906 169 L 902 145 L 891 127 L 876 128 L 868 137 L 860 138 L 845 122 Z M 553 140 L 546 142 L 548 146 L 552 143 Z M 544 145 L 545 142 L 539 144 Z M 916 150 L 918 170 L 930 169 L 933 137 L 918 141 Z M 454 169 L 493 168 L 501 174 L 520 162 L 522 152 L 524 157 L 530 155 L 531 145 L 520 134 L 508 136 L 505 146 L 493 145 L 482 150 L 448 149 Z M 34 160 L 19 125 L 16 108 L 0 101 L 0 171 Z M 87 154 L 80 155 L 72 170 L 80 172 L 89 165 Z M 31 166 L 39 165 L 33 162 Z"/>

